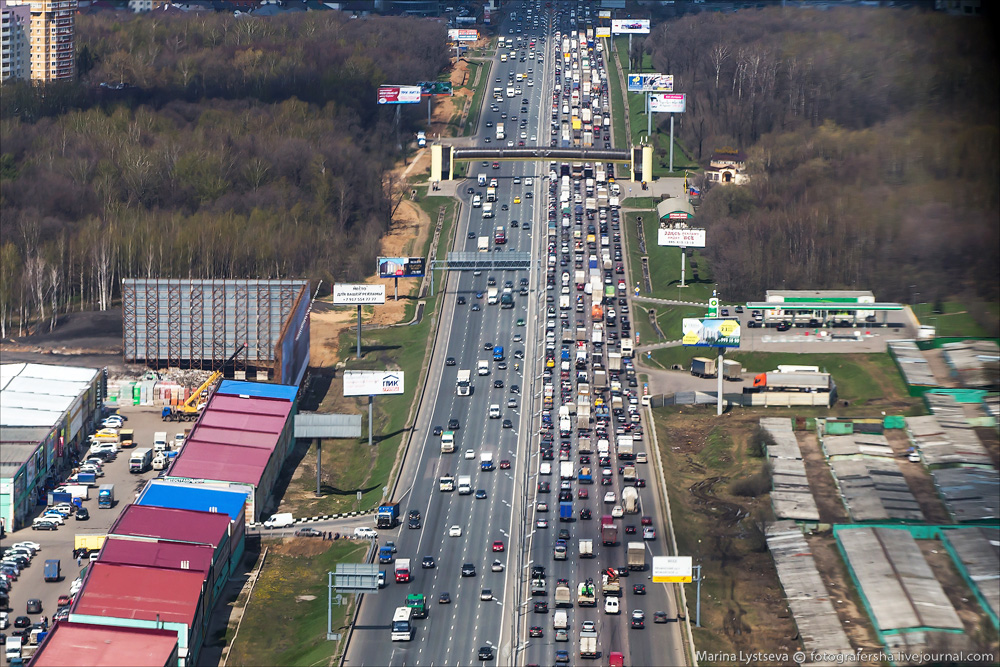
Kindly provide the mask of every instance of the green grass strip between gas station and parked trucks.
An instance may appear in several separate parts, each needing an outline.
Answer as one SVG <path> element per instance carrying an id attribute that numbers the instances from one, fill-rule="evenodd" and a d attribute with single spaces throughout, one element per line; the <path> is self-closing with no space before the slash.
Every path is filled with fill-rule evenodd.
<path id="1" fill-rule="evenodd" d="M 664 368 L 677 364 L 688 369 L 693 357 L 712 354 L 714 352 L 708 348 L 677 346 L 653 350 L 653 359 Z M 820 370 L 833 375 L 837 397 L 849 402 L 846 412 L 850 414 L 856 414 L 859 407 L 888 407 L 895 410 L 893 414 L 923 414 L 919 399 L 908 395 L 906 384 L 888 354 L 731 352 L 726 358 L 739 361 L 744 371 L 750 373 L 772 371 L 783 364 L 819 366 Z M 841 409 L 841 405 L 838 403 L 834 411 Z"/>

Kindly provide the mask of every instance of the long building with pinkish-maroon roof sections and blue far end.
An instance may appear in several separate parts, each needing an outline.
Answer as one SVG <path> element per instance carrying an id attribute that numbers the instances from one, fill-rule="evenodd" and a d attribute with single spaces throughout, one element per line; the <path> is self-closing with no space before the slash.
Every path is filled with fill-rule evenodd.
<path id="1" fill-rule="evenodd" d="M 297 387 L 223 381 L 166 479 L 247 495 L 246 520 L 277 502 L 274 483 L 294 447 Z"/>

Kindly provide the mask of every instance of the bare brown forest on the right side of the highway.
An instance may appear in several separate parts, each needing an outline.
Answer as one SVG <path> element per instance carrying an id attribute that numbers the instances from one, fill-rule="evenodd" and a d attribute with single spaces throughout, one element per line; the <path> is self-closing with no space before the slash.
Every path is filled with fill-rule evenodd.
<path id="1" fill-rule="evenodd" d="M 750 184 L 703 190 L 697 212 L 725 298 L 782 288 L 998 298 L 993 27 L 775 6 L 687 15 L 634 40 L 634 64 L 647 54 L 687 93 L 675 125 L 692 157 L 746 155 Z"/>

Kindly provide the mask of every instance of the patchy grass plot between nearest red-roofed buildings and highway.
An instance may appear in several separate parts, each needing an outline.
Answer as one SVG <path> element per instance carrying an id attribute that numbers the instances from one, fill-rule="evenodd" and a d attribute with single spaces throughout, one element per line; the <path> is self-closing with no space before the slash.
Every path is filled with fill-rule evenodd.
<path id="1" fill-rule="evenodd" d="M 368 544 L 349 540 L 328 542 L 316 538 L 268 541 L 267 559 L 253 589 L 253 599 L 240 624 L 229 664 L 332 664 L 343 650 L 326 640 L 326 573 L 337 563 L 360 563 Z M 333 632 L 346 637 L 353 613 L 350 604 L 333 607 Z"/>

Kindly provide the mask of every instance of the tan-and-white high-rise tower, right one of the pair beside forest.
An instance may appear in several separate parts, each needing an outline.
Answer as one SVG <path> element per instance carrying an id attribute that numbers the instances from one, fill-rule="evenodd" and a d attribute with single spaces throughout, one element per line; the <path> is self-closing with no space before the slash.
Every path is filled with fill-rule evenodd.
<path id="1" fill-rule="evenodd" d="M 30 0 L 31 80 L 39 83 L 76 77 L 77 0 Z"/>

